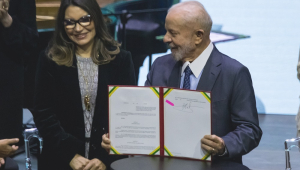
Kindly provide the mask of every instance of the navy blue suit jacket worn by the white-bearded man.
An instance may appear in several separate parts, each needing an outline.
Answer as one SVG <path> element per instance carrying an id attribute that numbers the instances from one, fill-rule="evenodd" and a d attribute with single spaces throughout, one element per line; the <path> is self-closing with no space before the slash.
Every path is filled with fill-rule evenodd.
<path id="1" fill-rule="evenodd" d="M 146 86 L 180 87 L 182 62 L 171 55 L 156 59 Z M 197 90 L 211 91 L 212 134 L 223 138 L 228 155 L 213 157 L 242 163 L 242 155 L 254 149 L 262 131 L 258 123 L 254 90 L 248 69 L 214 47 Z"/>

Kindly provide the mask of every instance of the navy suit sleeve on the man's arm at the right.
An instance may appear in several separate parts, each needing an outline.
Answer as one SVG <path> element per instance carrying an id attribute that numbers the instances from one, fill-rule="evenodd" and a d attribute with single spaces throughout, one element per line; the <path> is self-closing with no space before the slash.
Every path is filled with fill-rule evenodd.
<path id="1" fill-rule="evenodd" d="M 229 158 L 244 155 L 258 146 L 262 136 L 250 73 L 241 67 L 235 75 L 230 101 L 233 131 L 223 136 Z"/>

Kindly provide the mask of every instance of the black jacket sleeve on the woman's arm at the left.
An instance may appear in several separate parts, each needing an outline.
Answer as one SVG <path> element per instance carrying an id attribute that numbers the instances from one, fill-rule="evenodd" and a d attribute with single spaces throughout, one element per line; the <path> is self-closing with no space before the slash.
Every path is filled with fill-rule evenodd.
<path id="1" fill-rule="evenodd" d="M 84 142 L 66 133 L 56 118 L 58 113 L 56 99 L 59 96 L 55 95 L 55 81 L 57 81 L 55 66 L 56 64 L 45 54 L 40 56 L 32 113 L 39 133 L 44 138 L 44 144 L 55 153 L 61 153 L 57 156 L 69 163 L 79 151 L 82 152 Z"/>

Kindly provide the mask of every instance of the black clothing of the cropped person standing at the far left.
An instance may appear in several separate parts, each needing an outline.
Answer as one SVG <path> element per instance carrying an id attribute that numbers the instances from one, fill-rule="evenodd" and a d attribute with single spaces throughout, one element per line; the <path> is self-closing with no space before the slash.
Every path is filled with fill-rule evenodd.
<path id="1" fill-rule="evenodd" d="M 11 0 L 12 25 L 0 23 L 0 139 L 22 140 L 24 65 L 32 57 L 38 33 L 34 0 Z"/>

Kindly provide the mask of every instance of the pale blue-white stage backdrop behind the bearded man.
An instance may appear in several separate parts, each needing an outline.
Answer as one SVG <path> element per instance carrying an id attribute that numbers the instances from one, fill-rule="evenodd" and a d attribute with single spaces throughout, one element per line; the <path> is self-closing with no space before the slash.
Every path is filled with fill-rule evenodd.
<path id="1" fill-rule="evenodd" d="M 184 0 L 183 0 L 184 1 Z M 201 0 L 222 31 L 251 38 L 216 44 L 246 65 L 253 79 L 259 113 L 295 115 L 300 83 L 296 66 L 300 47 L 299 0 Z M 153 60 L 162 54 L 154 55 Z M 139 85 L 148 72 L 141 68 Z"/>

